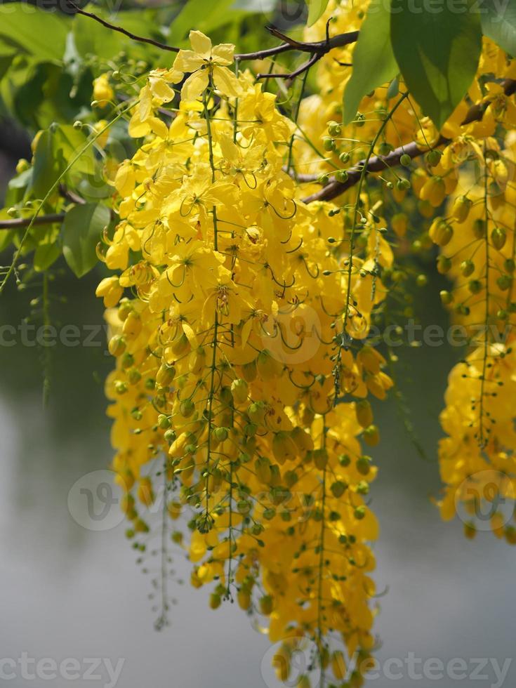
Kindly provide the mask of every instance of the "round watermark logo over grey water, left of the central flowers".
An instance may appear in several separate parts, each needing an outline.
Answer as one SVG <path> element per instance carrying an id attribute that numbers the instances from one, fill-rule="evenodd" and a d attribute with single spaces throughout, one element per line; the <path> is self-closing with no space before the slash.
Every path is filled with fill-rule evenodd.
<path id="1" fill-rule="evenodd" d="M 121 489 L 112 470 L 93 470 L 80 477 L 68 492 L 68 511 L 86 530 L 105 531 L 124 520 L 120 508 Z"/>

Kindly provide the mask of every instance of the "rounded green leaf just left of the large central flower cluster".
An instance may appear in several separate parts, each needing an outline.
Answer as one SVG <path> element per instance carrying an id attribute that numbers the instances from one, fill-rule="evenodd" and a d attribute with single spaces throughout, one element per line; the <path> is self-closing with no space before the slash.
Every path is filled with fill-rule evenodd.
<path id="1" fill-rule="evenodd" d="M 100 203 L 74 206 L 62 225 L 62 253 L 77 277 L 83 277 L 98 262 L 96 246 L 110 223 L 110 210 Z"/>

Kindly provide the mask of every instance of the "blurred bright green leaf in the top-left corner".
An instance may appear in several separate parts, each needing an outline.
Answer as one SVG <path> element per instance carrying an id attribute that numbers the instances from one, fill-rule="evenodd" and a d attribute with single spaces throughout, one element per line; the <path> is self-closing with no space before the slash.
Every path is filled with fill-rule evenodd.
<path id="1" fill-rule="evenodd" d="M 0 5 L 0 38 L 20 46 L 41 62 L 60 62 L 65 54 L 69 22 L 57 13 L 25 2 Z"/>

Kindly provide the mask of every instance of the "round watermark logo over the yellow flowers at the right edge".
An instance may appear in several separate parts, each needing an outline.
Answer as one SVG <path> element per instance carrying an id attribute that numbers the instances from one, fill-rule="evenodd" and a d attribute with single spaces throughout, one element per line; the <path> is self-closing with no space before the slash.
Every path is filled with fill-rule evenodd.
<path id="1" fill-rule="evenodd" d="M 473 523 L 477 531 L 487 532 L 495 518 L 498 527 L 510 522 L 515 513 L 515 497 L 508 475 L 499 470 L 480 470 L 456 489 L 455 508 L 463 523 Z"/>

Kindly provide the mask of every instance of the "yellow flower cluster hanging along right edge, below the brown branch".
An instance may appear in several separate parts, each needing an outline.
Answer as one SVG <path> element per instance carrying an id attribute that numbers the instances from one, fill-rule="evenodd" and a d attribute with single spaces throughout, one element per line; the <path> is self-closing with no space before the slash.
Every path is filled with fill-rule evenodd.
<path id="1" fill-rule="evenodd" d="M 508 147 L 502 150 L 494 138 L 475 144 L 475 175 L 461 175 L 461 195 L 451 201 L 448 217 L 434 220 L 430 235 L 442 246 L 441 270 L 454 279 L 454 289 L 442 291 L 442 301 L 470 345 L 465 361 L 451 371 L 441 416 L 449 435 L 439 444 L 446 484 L 442 514 L 454 517 L 463 503 L 465 532 L 474 536 L 488 513 L 494 534 L 514 544 L 510 514 L 507 518 L 498 508 L 516 495 L 511 139 L 508 135 Z"/>

